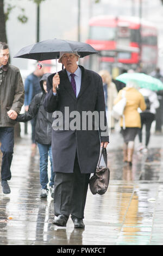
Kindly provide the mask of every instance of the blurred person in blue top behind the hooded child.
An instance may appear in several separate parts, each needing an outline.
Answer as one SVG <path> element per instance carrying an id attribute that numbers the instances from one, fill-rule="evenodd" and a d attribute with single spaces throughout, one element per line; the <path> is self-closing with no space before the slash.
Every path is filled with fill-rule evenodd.
<path id="1" fill-rule="evenodd" d="M 26 77 L 26 80 L 24 82 L 24 90 L 25 90 L 25 99 L 24 99 L 24 106 L 25 106 L 25 111 L 28 111 L 28 107 L 30 102 L 32 101 L 33 97 L 41 93 L 42 90 L 40 88 L 40 79 L 42 75 L 44 74 L 44 68 L 42 67 L 39 69 L 37 66 L 32 72 L 32 74 L 28 75 Z M 32 125 L 32 149 L 36 148 L 36 143 L 35 143 L 35 125 L 36 125 L 36 117 L 33 118 L 30 121 Z"/>

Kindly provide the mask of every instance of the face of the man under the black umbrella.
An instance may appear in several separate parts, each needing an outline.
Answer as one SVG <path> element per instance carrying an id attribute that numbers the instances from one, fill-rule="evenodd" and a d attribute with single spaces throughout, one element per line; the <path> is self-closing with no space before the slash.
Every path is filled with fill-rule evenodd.
<path id="1" fill-rule="evenodd" d="M 78 61 L 78 56 L 73 53 L 65 53 L 61 58 L 61 62 L 62 64 L 64 64 L 67 70 L 76 68 L 77 61 Z"/>

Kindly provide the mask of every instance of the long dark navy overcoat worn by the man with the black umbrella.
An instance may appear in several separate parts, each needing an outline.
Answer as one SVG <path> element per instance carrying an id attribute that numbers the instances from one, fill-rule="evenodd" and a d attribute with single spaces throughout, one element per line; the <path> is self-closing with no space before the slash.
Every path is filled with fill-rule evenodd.
<path id="1" fill-rule="evenodd" d="M 82 83 L 78 97 L 74 95 L 71 83 L 68 79 L 66 70 L 59 71 L 60 84 L 57 95 L 52 92 L 52 80 L 55 74 L 48 77 L 47 80 L 47 95 L 44 101 L 44 107 L 47 112 L 60 111 L 63 114 L 62 120 L 64 129 L 56 130 L 59 122 L 58 115 L 55 116 L 52 129 L 52 154 L 54 172 L 73 173 L 74 159 L 77 153 L 78 162 L 81 173 L 94 173 L 96 170 L 99 153 L 100 142 L 109 142 L 108 132 L 101 136 L 101 130 L 95 129 L 95 121 L 92 118 L 92 128 L 85 130 L 68 130 L 65 125 L 65 107 L 66 111 L 73 114 L 72 111 L 78 111 L 82 117 L 83 112 L 102 111 L 104 113 L 104 126 L 106 126 L 105 100 L 103 92 L 102 78 L 96 72 L 82 69 Z M 99 115 L 100 117 L 100 115 Z M 67 115 L 66 115 L 67 118 Z M 74 121 L 74 118 L 69 119 L 69 123 Z M 66 119 L 67 120 L 67 119 Z M 80 127 L 82 127 L 82 118 Z M 65 128 L 66 126 L 66 128 Z"/>

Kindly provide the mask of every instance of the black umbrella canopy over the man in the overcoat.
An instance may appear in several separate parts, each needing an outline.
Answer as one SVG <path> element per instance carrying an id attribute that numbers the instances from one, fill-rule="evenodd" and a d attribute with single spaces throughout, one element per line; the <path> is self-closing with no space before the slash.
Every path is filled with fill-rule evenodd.
<path id="1" fill-rule="evenodd" d="M 23 47 L 14 58 L 36 60 L 58 59 L 60 52 L 78 52 L 80 58 L 98 53 L 91 45 L 71 40 L 49 39 Z"/>

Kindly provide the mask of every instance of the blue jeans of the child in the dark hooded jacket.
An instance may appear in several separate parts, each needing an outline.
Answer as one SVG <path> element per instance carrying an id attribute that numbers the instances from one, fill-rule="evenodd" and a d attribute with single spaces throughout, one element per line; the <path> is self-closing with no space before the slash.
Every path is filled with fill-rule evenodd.
<path id="1" fill-rule="evenodd" d="M 48 184 L 48 156 L 51 162 L 51 178 L 49 186 L 54 185 L 54 176 L 55 173 L 53 172 L 53 160 L 52 160 L 52 147 L 51 145 L 45 145 L 37 143 L 39 148 L 39 154 L 40 154 L 40 184 L 41 187 L 46 190 L 47 184 Z"/>

